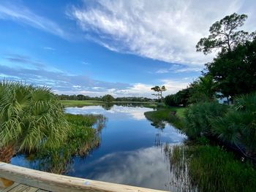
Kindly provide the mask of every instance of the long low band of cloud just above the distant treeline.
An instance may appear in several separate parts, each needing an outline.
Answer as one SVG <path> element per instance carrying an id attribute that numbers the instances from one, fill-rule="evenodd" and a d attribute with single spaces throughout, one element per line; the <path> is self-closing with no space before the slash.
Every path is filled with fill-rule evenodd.
<path id="1" fill-rule="evenodd" d="M 105 82 L 94 80 L 85 75 L 75 75 L 56 70 L 41 61 L 35 61 L 26 55 L 9 54 L 5 61 L 0 62 L 0 77 L 7 80 L 24 80 L 34 85 L 45 85 L 56 93 L 84 94 L 89 96 L 147 96 L 152 97 L 151 88 L 154 85 L 144 83 Z M 16 64 L 20 64 L 16 66 Z M 28 65 L 34 67 L 28 67 Z M 188 80 L 160 80 L 166 85 L 165 95 L 176 93 L 186 88 Z"/>

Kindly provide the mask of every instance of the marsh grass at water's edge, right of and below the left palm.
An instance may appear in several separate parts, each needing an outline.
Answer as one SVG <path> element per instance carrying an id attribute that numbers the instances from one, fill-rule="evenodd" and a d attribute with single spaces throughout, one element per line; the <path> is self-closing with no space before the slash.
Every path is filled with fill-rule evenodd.
<path id="1" fill-rule="evenodd" d="M 67 114 L 69 135 L 64 145 L 44 148 L 29 155 L 30 161 L 37 162 L 37 169 L 56 174 L 72 171 L 72 158 L 85 157 L 100 145 L 100 131 L 105 126 L 106 118 L 102 115 Z M 94 128 L 95 127 L 95 128 Z"/>

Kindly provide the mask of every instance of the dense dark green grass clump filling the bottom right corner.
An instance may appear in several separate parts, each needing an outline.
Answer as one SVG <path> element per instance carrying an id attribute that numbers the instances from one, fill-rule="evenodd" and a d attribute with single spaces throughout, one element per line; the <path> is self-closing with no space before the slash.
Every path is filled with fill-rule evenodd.
<path id="1" fill-rule="evenodd" d="M 199 191 L 255 191 L 255 169 L 236 160 L 233 153 L 205 145 L 190 154 L 189 175 Z"/>

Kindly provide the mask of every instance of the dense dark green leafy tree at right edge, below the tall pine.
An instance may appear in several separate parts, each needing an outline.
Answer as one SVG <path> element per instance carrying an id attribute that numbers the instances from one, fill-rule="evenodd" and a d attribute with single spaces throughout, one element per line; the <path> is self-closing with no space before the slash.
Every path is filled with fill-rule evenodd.
<path id="1" fill-rule="evenodd" d="M 256 38 L 238 45 L 230 53 L 219 53 L 206 68 L 217 82 L 217 91 L 227 98 L 255 91 Z"/>

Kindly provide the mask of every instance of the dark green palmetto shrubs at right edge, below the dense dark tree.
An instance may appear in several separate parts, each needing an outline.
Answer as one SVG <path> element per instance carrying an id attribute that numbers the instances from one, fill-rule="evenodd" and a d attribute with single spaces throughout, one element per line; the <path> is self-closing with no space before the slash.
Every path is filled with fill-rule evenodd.
<path id="1" fill-rule="evenodd" d="M 211 120 L 211 126 L 220 139 L 237 147 L 244 145 L 246 155 L 255 155 L 256 93 L 236 98 L 233 108 L 222 117 Z"/>

